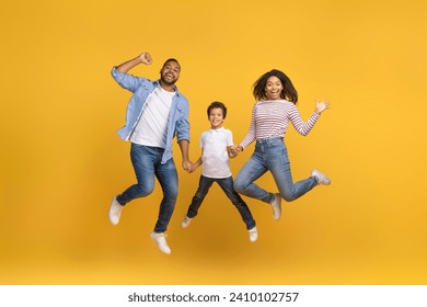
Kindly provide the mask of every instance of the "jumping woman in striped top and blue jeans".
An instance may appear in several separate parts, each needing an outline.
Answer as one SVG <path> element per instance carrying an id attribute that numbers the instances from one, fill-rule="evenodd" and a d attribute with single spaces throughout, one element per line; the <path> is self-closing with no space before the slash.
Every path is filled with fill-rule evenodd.
<path id="1" fill-rule="evenodd" d="M 323 111 L 330 107 L 327 101 L 315 101 L 315 110 L 305 123 L 302 121 L 296 103 L 297 90 L 290 79 L 280 70 L 273 69 L 261 76 L 253 86 L 256 103 L 252 111 L 251 126 L 235 152 L 244 150 L 256 140 L 255 151 L 243 166 L 234 180 L 234 190 L 243 195 L 268 203 L 273 207 L 273 217 L 281 215 L 281 198 L 291 202 L 302 196 L 318 184 L 331 184 L 331 180 L 318 170 L 308 179 L 293 183 L 289 158 L 284 137 L 289 122 L 297 132 L 307 136 L 314 127 Z M 269 193 L 254 183 L 270 171 L 279 193 Z"/>

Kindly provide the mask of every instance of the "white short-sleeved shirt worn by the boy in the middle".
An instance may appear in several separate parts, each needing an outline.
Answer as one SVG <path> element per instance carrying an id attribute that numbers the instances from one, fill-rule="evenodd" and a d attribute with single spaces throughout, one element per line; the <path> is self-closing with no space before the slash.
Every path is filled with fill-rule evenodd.
<path id="1" fill-rule="evenodd" d="M 201 174 L 208 178 L 228 178 L 231 175 L 227 147 L 233 145 L 231 130 L 224 127 L 209 129 L 200 135 Z"/>

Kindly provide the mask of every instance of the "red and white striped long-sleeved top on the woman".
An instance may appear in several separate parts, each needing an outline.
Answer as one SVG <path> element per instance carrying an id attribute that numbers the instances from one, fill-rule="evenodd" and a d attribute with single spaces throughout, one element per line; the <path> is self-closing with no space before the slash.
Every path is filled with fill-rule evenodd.
<path id="1" fill-rule="evenodd" d="M 285 137 L 289 122 L 305 136 L 314 127 L 320 114 L 313 112 L 309 121 L 302 121 L 297 106 L 286 100 L 259 101 L 254 104 L 250 129 L 240 144 L 246 148 L 255 139 Z"/>

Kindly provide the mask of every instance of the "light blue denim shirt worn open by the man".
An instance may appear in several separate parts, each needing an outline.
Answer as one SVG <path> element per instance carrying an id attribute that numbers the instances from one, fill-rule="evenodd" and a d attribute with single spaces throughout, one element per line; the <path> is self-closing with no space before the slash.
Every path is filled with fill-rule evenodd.
<path id="1" fill-rule="evenodd" d="M 160 83 L 159 81 L 151 81 L 129 73 L 123 73 L 115 67 L 113 67 L 112 76 L 122 88 L 134 93 L 127 105 L 126 124 L 117 130 L 122 139 L 129 140 L 141 117 L 147 98 L 157 87 L 160 87 Z M 175 95 L 172 99 L 171 113 L 169 114 L 166 134 L 166 148 L 164 149 L 162 163 L 165 163 L 172 158 L 172 139 L 175 135 L 177 141 L 183 139 L 189 141 L 188 101 L 178 92 L 176 87 Z"/>

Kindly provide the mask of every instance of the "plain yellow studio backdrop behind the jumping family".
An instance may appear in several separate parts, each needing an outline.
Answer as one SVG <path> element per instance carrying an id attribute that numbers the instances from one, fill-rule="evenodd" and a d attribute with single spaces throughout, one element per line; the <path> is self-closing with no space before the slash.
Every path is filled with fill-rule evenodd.
<path id="1" fill-rule="evenodd" d="M 1 33 L 1 284 L 426 284 L 427 4 L 408 1 L 7 1 Z M 234 141 L 247 132 L 253 82 L 273 68 L 299 91 L 308 137 L 286 136 L 295 180 L 332 179 L 296 202 L 245 198 L 251 243 L 218 185 L 187 229 L 199 178 L 181 168 L 171 255 L 149 238 L 161 189 L 109 225 L 112 197 L 135 182 L 116 135 L 130 93 L 109 71 L 149 52 L 150 79 L 182 65 L 191 158 L 214 100 Z M 253 145 L 231 160 L 235 175 Z M 258 183 L 277 192 L 269 174 Z"/>

